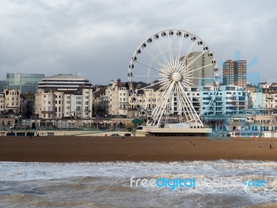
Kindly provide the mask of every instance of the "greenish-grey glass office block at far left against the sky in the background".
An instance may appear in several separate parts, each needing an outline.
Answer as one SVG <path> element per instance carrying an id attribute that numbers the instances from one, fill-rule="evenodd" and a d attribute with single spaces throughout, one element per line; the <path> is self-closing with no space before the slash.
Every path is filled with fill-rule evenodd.
<path id="1" fill-rule="evenodd" d="M 35 94 L 42 78 L 44 78 L 42 73 L 7 73 L 7 80 L 0 81 L 0 87 L 1 89 L 20 89 L 21 94 Z"/>

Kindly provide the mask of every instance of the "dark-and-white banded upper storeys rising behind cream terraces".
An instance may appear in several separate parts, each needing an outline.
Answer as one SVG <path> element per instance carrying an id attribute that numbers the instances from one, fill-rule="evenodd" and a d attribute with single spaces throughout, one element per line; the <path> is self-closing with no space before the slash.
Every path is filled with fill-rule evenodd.
<path id="1" fill-rule="evenodd" d="M 79 87 L 92 87 L 88 79 L 73 74 L 57 74 L 42 78 L 39 89 L 56 89 L 58 91 L 75 91 Z"/>

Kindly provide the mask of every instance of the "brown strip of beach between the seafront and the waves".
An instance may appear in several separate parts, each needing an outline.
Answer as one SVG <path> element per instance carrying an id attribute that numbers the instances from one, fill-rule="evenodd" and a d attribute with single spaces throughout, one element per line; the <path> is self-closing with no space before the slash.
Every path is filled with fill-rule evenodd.
<path id="1" fill-rule="evenodd" d="M 269 148 L 270 144 L 273 148 Z M 0 161 L 173 162 L 216 159 L 277 161 L 277 138 L 0 137 Z"/>

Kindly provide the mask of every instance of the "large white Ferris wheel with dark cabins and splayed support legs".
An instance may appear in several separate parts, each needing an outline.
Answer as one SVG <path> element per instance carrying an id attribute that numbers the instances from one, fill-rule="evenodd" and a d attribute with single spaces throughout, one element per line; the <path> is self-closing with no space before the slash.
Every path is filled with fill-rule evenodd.
<path id="1" fill-rule="evenodd" d="M 147 116 L 146 124 L 153 126 L 166 123 L 170 116 L 179 123 L 203 125 L 200 115 L 209 110 L 220 85 L 208 45 L 180 30 L 161 31 L 145 39 L 130 61 L 128 82 L 132 102 Z M 145 92 L 151 92 L 150 96 Z M 203 98 L 206 105 L 201 105 Z"/>

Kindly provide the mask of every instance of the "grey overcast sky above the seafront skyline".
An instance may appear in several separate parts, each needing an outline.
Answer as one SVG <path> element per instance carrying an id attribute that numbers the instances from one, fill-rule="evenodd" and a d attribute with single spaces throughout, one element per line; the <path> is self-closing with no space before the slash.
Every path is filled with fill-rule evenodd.
<path id="1" fill-rule="evenodd" d="M 274 0 L 1 0 L 0 80 L 21 72 L 127 81 L 139 44 L 179 29 L 204 40 L 218 62 L 247 60 L 250 76 L 277 82 L 276 10 Z"/>

